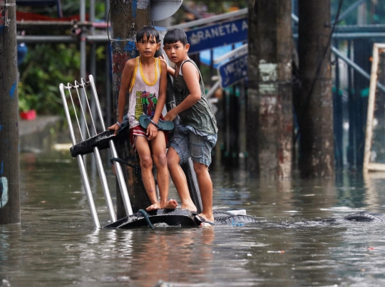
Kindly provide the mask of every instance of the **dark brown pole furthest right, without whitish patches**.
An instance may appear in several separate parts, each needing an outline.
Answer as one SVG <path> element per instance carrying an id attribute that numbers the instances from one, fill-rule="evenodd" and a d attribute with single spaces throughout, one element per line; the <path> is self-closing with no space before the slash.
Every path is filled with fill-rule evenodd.
<path id="1" fill-rule="evenodd" d="M 334 176 L 330 1 L 299 0 L 299 170 L 302 177 Z"/>

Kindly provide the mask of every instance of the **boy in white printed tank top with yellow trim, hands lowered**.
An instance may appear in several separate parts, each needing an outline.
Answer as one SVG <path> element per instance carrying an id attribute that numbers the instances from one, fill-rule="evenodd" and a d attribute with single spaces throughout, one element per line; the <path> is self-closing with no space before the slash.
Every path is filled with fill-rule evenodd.
<path id="1" fill-rule="evenodd" d="M 169 174 L 165 154 L 165 134 L 155 126 L 161 118 L 165 105 L 167 86 L 167 64 L 154 58 L 155 51 L 160 48 L 158 31 L 150 26 L 141 28 L 136 35 L 135 46 L 140 56 L 125 63 L 118 98 L 118 122 L 108 127 L 108 130 L 115 130 L 116 135 L 120 129 L 125 100 L 127 93 L 129 93 L 130 143 L 133 145 L 133 149 L 138 152 L 143 184 L 150 198 L 151 205 L 147 210 L 175 209 L 178 203 L 174 199 L 167 201 Z M 155 125 L 150 122 L 147 130 L 140 127 L 139 117 L 143 114 L 152 115 L 153 122 L 155 122 Z M 160 202 L 158 202 L 155 190 L 151 150 L 158 172 Z"/>

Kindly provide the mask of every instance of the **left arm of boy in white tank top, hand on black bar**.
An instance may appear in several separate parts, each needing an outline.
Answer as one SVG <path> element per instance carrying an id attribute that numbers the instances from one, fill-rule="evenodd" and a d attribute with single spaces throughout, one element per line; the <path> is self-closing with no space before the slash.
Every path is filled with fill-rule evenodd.
<path id="1" fill-rule="evenodd" d="M 108 127 L 108 130 L 115 130 L 114 135 L 120 129 L 120 124 L 123 122 L 125 100 L 127 99 L 127 93 L 130 88 L 130 83 L 133 78 L 133 71 L 135 69 L 135 58 L 128 60 L 123 68 L 122 78 L 120 80 L 120 90 L 118 98 L 118 123 Z"/>

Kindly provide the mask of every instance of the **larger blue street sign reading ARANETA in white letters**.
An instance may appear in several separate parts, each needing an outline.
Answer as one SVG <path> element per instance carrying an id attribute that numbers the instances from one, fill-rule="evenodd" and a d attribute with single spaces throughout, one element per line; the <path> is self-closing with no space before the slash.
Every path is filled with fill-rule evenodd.
<path id="1" fill-rule="evenodd" d="M 244 18 L 186 31 L 188 43 L 190 43 L 188 52 L 195 53 L 247 41 L 247 30 L 247 19 Z"/>

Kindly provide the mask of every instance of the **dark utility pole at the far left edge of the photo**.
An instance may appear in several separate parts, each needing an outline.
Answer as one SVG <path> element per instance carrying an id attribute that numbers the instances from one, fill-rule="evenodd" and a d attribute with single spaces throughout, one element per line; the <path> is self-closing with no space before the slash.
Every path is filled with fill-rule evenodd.
<path id="1" fill-rule="evenodd" d="M 20 222 L 15 0 L 0 0 L 0 224 Z"/>

